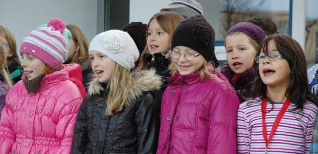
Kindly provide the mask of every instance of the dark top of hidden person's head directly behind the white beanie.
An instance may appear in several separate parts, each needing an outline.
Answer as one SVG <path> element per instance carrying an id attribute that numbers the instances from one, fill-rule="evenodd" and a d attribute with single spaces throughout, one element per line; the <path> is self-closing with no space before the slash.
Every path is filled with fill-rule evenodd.
<path id="1" fill-rule="evenodd" d="M 127 32 L 133 38 L 140 52 L 144 51 L 147 44 L 147 24 L 143 24 L 142 22 L 131 22 L 130 24 L 127 24 L 122 30 Z"/>

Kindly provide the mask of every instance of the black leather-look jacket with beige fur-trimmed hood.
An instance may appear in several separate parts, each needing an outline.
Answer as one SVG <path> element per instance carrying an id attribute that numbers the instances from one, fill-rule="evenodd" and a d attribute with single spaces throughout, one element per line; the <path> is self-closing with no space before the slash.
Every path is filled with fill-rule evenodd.
<path id="1" fill-rule="evenodd" d="M 155 154 L 161 100 L 155 91 L 162 84 L 155 72 L 132 72 L 131 106 L 111 116 L 105 114 L 106 84 L 95 79 L 79 109 L 73 154 Z"/>

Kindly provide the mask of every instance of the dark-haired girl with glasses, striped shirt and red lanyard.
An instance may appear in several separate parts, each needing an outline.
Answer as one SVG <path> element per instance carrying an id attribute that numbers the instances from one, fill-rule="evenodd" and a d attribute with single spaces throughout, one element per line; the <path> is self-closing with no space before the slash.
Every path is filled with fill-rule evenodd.
<path id="1" fill-rule="evenodd" d="M 274 34 L 257 55 L 254 99 L 239 105 L 238 154 L 309 154 L 318 100 L 308 89 L 302 47 Z"/>

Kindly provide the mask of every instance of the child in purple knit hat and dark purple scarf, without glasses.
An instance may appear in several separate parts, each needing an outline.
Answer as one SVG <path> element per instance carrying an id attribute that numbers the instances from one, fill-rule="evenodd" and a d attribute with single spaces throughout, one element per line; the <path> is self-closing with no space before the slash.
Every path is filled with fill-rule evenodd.
<path id="1" fill-rule="evenodd" d="M 225 48 L 228 64 L 223 65 L 221 73 L 237 90 L 241 103 L 250 99 L 249 83 L 255 76 L 254 58 L 259 44 L 265 37 L 260 27 L 249 22 L 238 23 L 226 33 Z"/>

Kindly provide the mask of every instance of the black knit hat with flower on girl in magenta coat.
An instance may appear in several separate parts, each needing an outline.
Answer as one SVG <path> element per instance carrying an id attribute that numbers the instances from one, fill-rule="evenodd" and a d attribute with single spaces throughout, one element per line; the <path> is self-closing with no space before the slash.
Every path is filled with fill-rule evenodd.
<path id="1" fill-rule="evenodd" d="M 180 22 L 171 39 L 171 50 L 184 46 L 199 52 L 208 62 L 219 66 L 214 53 L 215 33 L 203 15 L 195 15 Z"/>

